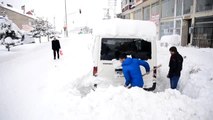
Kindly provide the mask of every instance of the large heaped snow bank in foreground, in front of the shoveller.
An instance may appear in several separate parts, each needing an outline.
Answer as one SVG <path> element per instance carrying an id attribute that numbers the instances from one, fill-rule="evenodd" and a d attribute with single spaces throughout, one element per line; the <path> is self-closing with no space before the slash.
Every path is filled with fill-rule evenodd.
<path id="1" fill-rule="evenodd" d="M 203 109 L 194 104 L 194 100 L 174 90 L 152 93 L 111 86 L 88 94 L 70 115 L 81 120 L 198 119 Z"/>

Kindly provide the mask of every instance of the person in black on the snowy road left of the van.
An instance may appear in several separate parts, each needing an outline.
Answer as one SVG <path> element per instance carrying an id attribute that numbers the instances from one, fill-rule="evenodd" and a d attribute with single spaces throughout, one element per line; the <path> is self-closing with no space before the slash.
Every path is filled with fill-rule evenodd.
<path id="1" fill-rule="evenodd" d="M 53 55 L 54 55 L 54 60 L 56 59 L 56 53 L 58 59 L 60 58 L 59 50 L 61 49 L 60 42 L 56 37 L 53 38 L 52 40 L 52 50 L 53 50 Z"/>

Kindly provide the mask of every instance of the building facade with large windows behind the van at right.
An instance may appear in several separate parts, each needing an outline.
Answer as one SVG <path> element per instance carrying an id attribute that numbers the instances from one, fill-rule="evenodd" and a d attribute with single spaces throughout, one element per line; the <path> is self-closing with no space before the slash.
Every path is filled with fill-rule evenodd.
<path id="1" fill-rule="evenodd" d="M 158 39 L 178 34 L 181 45 L 213 47 L 213 0 L 122 0 L 124 19 L 150 20 Z"/>

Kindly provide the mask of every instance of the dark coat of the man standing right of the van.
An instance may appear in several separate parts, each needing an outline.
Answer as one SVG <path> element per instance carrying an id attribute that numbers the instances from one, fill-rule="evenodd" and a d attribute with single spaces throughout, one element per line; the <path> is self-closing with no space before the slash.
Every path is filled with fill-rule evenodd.
<path id="1" fill-rule="evenodd" d="M 183 57 L 176 52 L 175 54 L 171 55 L 169 61 L 169 74 L 168 77 L 171 78 L 173 76 L 180 76 L 183 64 Z"/>

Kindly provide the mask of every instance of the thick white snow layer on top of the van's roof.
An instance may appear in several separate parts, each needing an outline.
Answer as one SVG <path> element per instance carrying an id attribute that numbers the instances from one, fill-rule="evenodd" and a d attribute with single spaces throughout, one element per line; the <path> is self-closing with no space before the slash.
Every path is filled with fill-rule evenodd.
<path id="1" fill-rule="evenodd" d="M 93 28 L 96 36 L 107 38 L 147 38 L 156 37 L 156 25 L 151 21 L 110 19 L 102 20 Z"/>

